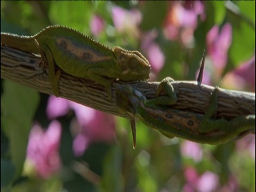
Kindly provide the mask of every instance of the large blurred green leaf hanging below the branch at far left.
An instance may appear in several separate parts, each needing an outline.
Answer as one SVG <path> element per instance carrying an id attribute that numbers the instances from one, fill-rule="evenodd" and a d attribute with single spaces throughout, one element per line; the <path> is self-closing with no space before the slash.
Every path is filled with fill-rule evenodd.
<path id="1" fill-rule="evenodd" d="M 28 134 L 38 106 L 38 92 L 28 87 L 5 81 L 3 83 L 2 131 L 10 141 L 10 154 L 18 177 L 26 157 Z"/>

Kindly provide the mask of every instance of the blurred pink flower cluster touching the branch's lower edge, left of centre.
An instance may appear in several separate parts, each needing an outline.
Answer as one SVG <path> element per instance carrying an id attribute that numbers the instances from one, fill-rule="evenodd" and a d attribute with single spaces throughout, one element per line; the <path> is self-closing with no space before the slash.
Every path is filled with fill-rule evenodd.
<path id="1" fill-rule="evenodd" d="M 73 101 L 51 96 L 47 105 L 47 116 L 63 116 L 69 109 L 75 111 L 76 119 L 71 124 L 75 133 L 74 154 L 80 156 L 91 142 L 113 142 L 115 137 L 115 119 L 113 115 L 85 107 Z"/>

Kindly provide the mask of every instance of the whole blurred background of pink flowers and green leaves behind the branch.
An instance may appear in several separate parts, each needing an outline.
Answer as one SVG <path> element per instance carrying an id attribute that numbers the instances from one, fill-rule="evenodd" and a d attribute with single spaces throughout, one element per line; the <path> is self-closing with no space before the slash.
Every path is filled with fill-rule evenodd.
<path id="1" fill-rule="evenodd" d="M 49 25 L 138 50 L 151 81 L 254 92 L 255 2 L 1 1 L 1 31 Z M 1 188 L 13 191 L 255 191 L 255 135 L 219 146 L 167 139 L 129 121 L 1 81 Z M 47 131 L 46 131 L 47 130 Z"/>

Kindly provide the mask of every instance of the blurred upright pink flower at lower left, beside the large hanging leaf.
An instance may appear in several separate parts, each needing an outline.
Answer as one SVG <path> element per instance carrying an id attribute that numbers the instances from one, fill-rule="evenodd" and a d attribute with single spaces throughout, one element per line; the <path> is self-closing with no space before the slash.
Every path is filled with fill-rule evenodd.
<path id="1" fill-rule="evenodd" d="M 29 135 L 27 160 L 34 165 L 39 177 L 47 179 L 61 168 L 59 145 L 61 125 L 53 121 L 46 131 L 35 124 Z"/>

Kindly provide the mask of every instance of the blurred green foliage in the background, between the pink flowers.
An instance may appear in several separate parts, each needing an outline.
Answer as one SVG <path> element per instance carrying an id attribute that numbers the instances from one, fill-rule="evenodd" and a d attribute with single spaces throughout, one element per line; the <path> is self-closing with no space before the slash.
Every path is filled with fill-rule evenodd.
<path id="1" fill-rule="evenodd" d="M 228 52 L 225 73 L 234 70 L 239 63 L 254 55 L 254 1 L 204 2 L 206 20 L 198 22 L 194 33 L 195 44 L 189 48 L 179 41 L 164 38 L 162 28 L 169 7 L 167 2 L 1 1 L 1 31 L 33 35 L 46 26 L 58 24 L 77 29 L 93 37 L 90 22 L 93 15 L 97 14 L 105 21 L 105 30 L 93 38 L 110 47 L 118 45 L 143 53 L 140 38 L 135 39 L 127 35 L 127 31 L 121 33 L 115 29 L 111 17 L 114 6 L 126 10 L 138 9 L 142 13 L 140 30 L 157 31 L 155 42 L 161 47 L 165 56 L 165 65 L 158 75 L 159 80 L 166 76 L 177 80 L 195 79 L 202 51 L 206 47 L 205 37 L 213 25 L 221 26 L 229 22 L 233 27 L 233 41 Z M 59 118 L 62 124 L 60 148 L 62 171 L 51 180 L 21 179 L 19 177 L 26 155 L 28 129 L 33 121 L 39 121 L 45 126 L 49 124 L 49 120 L 45 117 L 48 96 L 40 93 L 41 100 L 38 105 L 36 91 L 7 81 L 2 81 L 1 84 L 3 86 L 1 133 L 10 142 L 9 151 L 1 153 L 1 187 L 5 190 L 11 188 L 15 179 L 13 191 L 34 191 L 35 189 L 38 191 L 61 191 L 62 189 L 67 191 L 185 191 L 188 182 L 186 171 L 190 168 L 194 169 L 198 175 L 206 171 L 215 173 L 219 180 L 215 191 L 225 189 L 222 188 L 223 186 L 230 187 L 232 184 L 230 184 L 230 178 L 237 182 L 234 184 L 236 191 L 255 190 L 255 155 L 252 157 L 250 150 L 244 150 L 237 146 L 236 142 L 219 146 L 198 145 L 202 151 L 202 159 L 195 161 L 181 153 L 182 144 L 185 141 L 178 138 L 167 139 L 161 133 L 138 122 L 137 148 L 132 149 L 130 124 L 127 119 L 119 117 L 116 117 L 116 143 L 91 144 L 79 158 L 74 157 L 72 152 L 73 138 L 69 131 L 71 117 Z M 22 109 L 26 110 L 22 111 Z M 244 138 L 244 142 L 240 144 L 244 145 L 243 143 L 253 139 L 255 140 L 251 137 Z M 2 145 L 7 144 L 2 141 Z M 97 174 L 100 180 L 92 182 L 74 172 L 71 167 L 74 159 L 86 162 L 87 167 Z M 13 164 L 16 170 L 13 169 Z M 10 167 L 7 169 L 9 175 L 6 175 L 7 171 L 4 169 L 6 167 Z M 230 187 L 229 191 L 231 190 Z"/>

